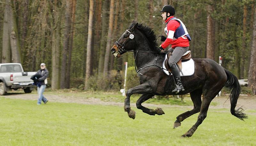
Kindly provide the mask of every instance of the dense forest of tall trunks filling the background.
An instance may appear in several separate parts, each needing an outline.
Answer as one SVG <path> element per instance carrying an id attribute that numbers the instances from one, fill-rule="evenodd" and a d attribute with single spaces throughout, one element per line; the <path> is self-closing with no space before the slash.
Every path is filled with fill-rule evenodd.
<path id="1" fill-rule="evenodd" d="M 134 56 L 114 58 L 111 47 L 133 20 L 164 35 L 166 4 L 186 25 L 192 58 L 221 56 L 256 94 L 255 0 L 0 0 L 0 63 L 37 71 L 44 62 L 52 89 L 119 89 L 124 62 L 136 74 Z"/>

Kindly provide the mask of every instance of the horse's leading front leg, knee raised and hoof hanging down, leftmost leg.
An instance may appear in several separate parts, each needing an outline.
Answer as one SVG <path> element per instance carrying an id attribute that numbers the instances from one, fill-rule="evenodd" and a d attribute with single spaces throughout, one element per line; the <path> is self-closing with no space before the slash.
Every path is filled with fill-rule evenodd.
<path id="1" fill-rule="evenodd" d="M 139 86 L 133 87 L 126 92 L 126 98 L 124 99 L 124 111 L 128 113 L 128 116 L 132 119 L 135 119 L 135 111 L 130 107 L 130 97 L 134 93 L 139 94 L 152 94 L 153 89 L 149 84 L 144 83 Z"/>

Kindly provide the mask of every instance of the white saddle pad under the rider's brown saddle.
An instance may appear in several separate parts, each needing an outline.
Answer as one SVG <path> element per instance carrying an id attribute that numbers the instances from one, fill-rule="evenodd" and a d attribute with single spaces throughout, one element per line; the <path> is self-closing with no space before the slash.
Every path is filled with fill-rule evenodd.
<path id="1" fill-rule="evenodd" d="M 164 61 L 167 59 L 167 54 L 165 55 L 165 59 Z M 194 60 L 193 59 L 190 59 L 188 61 L 185 61 L 185 62 L 181 62 L 182 64 L 182 73 L 183 75 L 181 74 L 180 72 L 180 76 L 191 76 L 195 73 L 195 64 L 194 64 Z M 163 71 L 165 74 L 169 75 L 169 72 L 166 70 L 166 67 L 164 66 L 164 62 L 163 62 Z M 172 74 L 171 74 L 172 75 Z"/>

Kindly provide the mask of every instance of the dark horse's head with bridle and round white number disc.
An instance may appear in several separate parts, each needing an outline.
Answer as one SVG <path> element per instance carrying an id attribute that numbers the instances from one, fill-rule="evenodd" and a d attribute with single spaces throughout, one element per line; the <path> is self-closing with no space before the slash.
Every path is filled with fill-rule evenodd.
<path id="1" fill-rule="evenodd" d="M 121 57 L 123 53 L 128 50 L 133 50 L 134 46 L 132 41 L 134 41 L 134 31 L 138 27 L 138 23 L 136 21 L 132 21 L 131 26 L 124 31 L 122 36 L 116 41 L 116 43 L 111 48 L 111 53 L 115 57 Z"/>

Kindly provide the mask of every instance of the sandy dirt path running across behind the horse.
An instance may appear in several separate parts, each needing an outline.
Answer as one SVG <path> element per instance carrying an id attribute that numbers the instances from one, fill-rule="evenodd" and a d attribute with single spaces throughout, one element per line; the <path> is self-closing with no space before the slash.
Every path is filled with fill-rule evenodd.
<path id="1" fill-rule="evenodd" d="M 51 92 L 45 93 L 47 99 L 50 102 L 65 102 L 65 103 L 81 103 L 81 104 L 94 104 L 94 105 L 116 105 L 116 106 L 123 106 L 123 102 L 107 102 L 107 101 L 101 101 L 98 98 L 84 98 L 83 94 L 78 94 L 78 96 L 70 96 L 65 95 L 65 93 L 61 93 L 59 95 L 51 94 Z M 32 92 L 30 94 L 25 93 L 8 93 L 5 96 L 2 96 L 5 98 L 11 98 L 11 99 L 25 99 L 25 100 L 37 100 L 37 94 L 36 92 Z M 230 100 L 228 99 L 228 95 L 216 97 L 213 99 L 212 102 L 217 103 L 216 106 L 210 106 L 210 108 L 230 108 Z M 226 101 L 227 100 L 227 101 Z M 225 102 L 226 101 L 226 102 Z M 223 104 L 224 103 L 224 104 Z M 148 104 L 144 103 L 144 106 L 147 107 L 160 107 L 159 105 L 154 104 Z M 237 102 L 237 105 L 243 106 L 244 109 L 256 109 L 256 97 L 253 96 L 240 96 Z M 136 107 L 135 103 L 131 103 L 131 106 Z M 178 105 L 161 105 L 161 107 L 181 107 Z M 183 106 L 183 107 L 191 107 L 192 106 Z"/>

